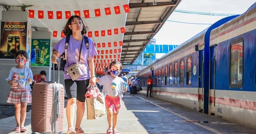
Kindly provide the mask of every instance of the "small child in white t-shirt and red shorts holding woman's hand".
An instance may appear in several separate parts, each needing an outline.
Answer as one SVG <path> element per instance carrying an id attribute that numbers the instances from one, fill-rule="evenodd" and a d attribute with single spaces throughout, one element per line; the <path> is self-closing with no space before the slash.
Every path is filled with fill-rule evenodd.
<path id="1" fill-rule="evenodd" d="M 127 91 L 123 86 L 125 83 L 122 78 L 118 77 L 122 70 L 122 64 L 114 60 L 109 65 L 109 75 L 104 75 L 96 79 L 96 82 L 103 85 L 103 93 L 106 94 L 105 106 L 107 108 L 108 129 L 107 134 L 119 134 L 116 130 L 117 114 L 121 108 L 122 91 Z M 113 124 L 113 125 L 112 125 Z"/>

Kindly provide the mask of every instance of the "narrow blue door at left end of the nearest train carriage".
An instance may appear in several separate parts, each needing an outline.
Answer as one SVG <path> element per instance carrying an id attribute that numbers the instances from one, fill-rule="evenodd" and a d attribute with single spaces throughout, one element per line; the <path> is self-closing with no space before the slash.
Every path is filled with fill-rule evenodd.
<path id="1" fill-rule="evenodd" d="M 209 70 L 209 114 L 215 114 L 215 46 L 210 47 L 210 70 Z"/>

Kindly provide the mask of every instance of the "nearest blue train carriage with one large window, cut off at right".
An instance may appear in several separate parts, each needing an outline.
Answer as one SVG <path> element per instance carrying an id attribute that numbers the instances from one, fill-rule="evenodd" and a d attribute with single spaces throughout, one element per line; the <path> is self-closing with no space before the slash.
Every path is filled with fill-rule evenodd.
<path id="1" fill-rule="evenodd" d="M 256 3 L 210 34 L 209 113 L 256 127 Z"/>

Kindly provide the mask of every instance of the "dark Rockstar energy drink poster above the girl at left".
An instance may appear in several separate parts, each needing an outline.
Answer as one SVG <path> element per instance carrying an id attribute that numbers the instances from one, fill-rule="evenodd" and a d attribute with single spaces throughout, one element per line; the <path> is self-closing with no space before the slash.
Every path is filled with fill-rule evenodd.
<path id="1" fill-rule="evenodd" d="M 26 51 L 27 23 L 1 21 L 1 59 L 15 59 L 18 50 Z"/>

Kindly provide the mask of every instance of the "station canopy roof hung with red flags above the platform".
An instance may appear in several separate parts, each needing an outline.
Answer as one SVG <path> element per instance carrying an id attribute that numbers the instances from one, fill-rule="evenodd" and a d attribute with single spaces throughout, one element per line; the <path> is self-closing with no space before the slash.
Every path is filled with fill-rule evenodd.
<path id="1" fill-rule="evenodd" d="M 51 31 L 53 45 L 63 37 L 66 17 L 80 15 L 89 28 L 86 36 L 98 50 L 94 61 L 96 73 L 101 74 L 114 59 L 134 63 L 180 1 L 0 0 L 0 4 L 2 11 L 27 11 L 32 31 Z"/>

